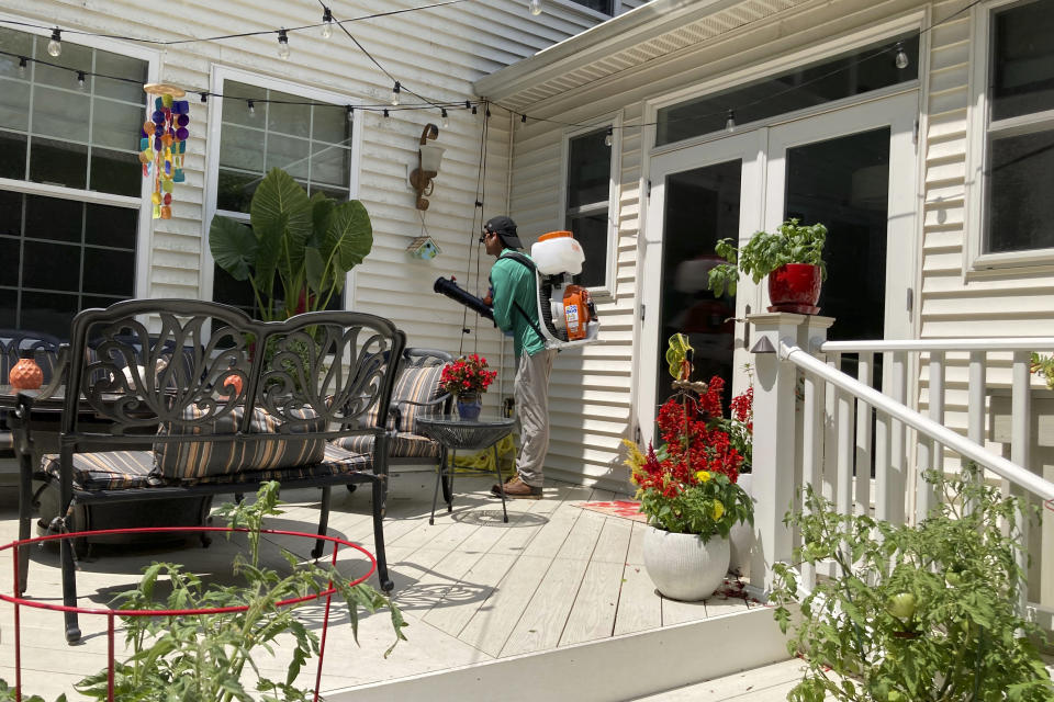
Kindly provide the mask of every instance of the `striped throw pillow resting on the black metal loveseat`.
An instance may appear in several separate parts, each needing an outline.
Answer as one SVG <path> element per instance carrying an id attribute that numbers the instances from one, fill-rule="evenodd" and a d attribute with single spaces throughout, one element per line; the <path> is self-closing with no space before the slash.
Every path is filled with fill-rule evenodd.
<path id="1" fill-rule="evenodd" d="M 161 424 L 158 435 L 233 434 L 242 422 L 244 407 L 235 407 L 229 414 L 201 424 L 168 422 Z M 154 445 L 157 475 L 179 480 L 199 480 L 210 476 L 223 476 L 251 471 L 274 471 L 319 463 L 325 451 L 325 439 L 296 438 L 295 434 L 325 430 L 325 421 L 315 419 L 311 408 L 289 412 L 305 423 L 282 422 L 262 408 L 254 408 L 249 427 L 250 434 L 281 433 L 279 441 L 189 441 L 158 442 Z M 183 419 L 199 419 L 204 410 L 195 405 L 183 409 Z M 279 431 L 279 430 L 282 431 Z"/>

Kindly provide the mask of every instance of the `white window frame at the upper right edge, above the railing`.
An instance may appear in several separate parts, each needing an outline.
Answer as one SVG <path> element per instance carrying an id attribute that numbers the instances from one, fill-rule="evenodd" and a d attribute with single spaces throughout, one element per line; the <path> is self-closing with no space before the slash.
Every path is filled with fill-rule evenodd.
<path id="1" fill-rule="evenodd" d="M 1036 112 L 1029 115 L 999 120 L 996 125 L 989 124 L 988 102 L 988 71 L 991 66 L 991 15 L 1020 0 L 996 0 L 975 5 L 972 9 L 974 27 L 971 42 L 969 63 L 973 71 L 969 77 L 969 139 L 966 143 L 966 247 L 964 247 L 964 267 L 966 273 L 982 273 L 986 270 L 999 270 L 1021 267 L 1054 267 L 1054 247 L 1046 249 L 1028 249 L 1023 251 L 1005 251 L 986 253 L 985 214 L 987 212 L 986 188 L 984 172 L 988 159 L 988 135 L 996 133 L 1003 136 L 1029 134 L 1035 132 L 1038 125 L 1045 124 L 1054 128 L 1054 110 Z"/>

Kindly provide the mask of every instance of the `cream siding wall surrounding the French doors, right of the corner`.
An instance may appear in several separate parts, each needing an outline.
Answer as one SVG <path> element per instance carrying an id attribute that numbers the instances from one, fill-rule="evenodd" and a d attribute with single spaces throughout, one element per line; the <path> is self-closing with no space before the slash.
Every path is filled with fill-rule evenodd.
<path id="1" fill-rule="evenodd" d="M 567 89 L 554 90 L 547 83 L 539 90 L 550 97 L 536 100 L 535 90 L 522 86 L 518 94 L 508 98 L 522 100 L 518 109 L 539 117 L 592 123 L 617 114 L 625 127 L 615 146 L 621 163 L 618 202 L 612 210 L 618 253 L 615 296 L 599 306 L 605 343 L 563 353 L 557 361 L 552 395 L 558 404 L 553 417 L 560 429 L 554 432 L 549 457 L 556 469 L 579 471 L 586 478 L 615 483 L 627 478 L 620 465 L 619 439 L 632 437 L 637 421 L 638 251 L 647 212 L 642 184 L 647 181 L 651 138 L 646 129 L 633 125 L 648 118 L 646 102 L 893 18 L 912 15 L 928 26 L 960 12 L 963 5 L 912 0 L 743 2 L 728 7 L 727 12 L 737 18 L 744 8 L 754 13 L 752 21 L 740 23 L 738 29 L 715 30 L 705 39 L 635 68 L 607 71 L 587 81 L 583 76 L 595 67 L 582 71 L 568 67 L 562 79 Z M 715 18 L 710 24 L 720 27 L 724 21 L 725 26 L 732 25 L 728 16 Z M 693 25 L 693 30 L 698 26 Z M 921 273 L 912 284 L 918 293 L 915 333 L 921 338 L 977 336 L 979 329 L 984 336 L 1054 333 L 1050 305 L 1054 275 L 1050 270 L 977 274 L 965 269 L 968 82 L 974 50 L 971 35 L 971 14 L 962 12 L 929 33 L 922 43 L 920 92 L 924 109 L 919 168 L 924 185 L 918 195 L 917 248 L 904 251 L 906 262 L 910 263 L 909 257 L 921 261 Z M 646 50 L 641 47 L 641 54 Z M 570 127 L 543 121 L 515 126 L 512 216 L 523 231 L 562 228 L 560 189 L 553 184 L 552 174 L 562 167 L 560 145 Z M 1001 369 L 991 371 L 996 380 L 1001 374 Z M 956 380 L 953 370 L 952 376 L 946 399 L 949 424 L 965 427 L 965 372 Z M 924 406 L 924 377 L 922 381 L 919 385 Z M 568 399 L 571 401 L 560 405 Z M 582 438 L 584 442 L 579 441 Z"/>

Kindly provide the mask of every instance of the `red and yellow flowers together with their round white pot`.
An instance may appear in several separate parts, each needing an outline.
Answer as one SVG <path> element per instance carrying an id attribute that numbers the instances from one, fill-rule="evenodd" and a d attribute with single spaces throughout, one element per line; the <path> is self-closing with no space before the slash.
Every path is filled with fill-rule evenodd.
<path id="1" fill-rule="evenodd" d="M 725 382 L 692 383 L 688 358 L 671 362 L 677 394 L 659 410 L 661 448 L 643 453 L 629 440 L 626 463 L 638 486 L 640 511 L 648 517 L 644 568 L 659 591 L 675 600 L 702 600 L 725 579 L 729 532 L 753 523 L 753 503 L 737 485 L 743 457 L 728 433 L 717 427 Z M 668 355 L 669 359 L 669 355 Z"/>

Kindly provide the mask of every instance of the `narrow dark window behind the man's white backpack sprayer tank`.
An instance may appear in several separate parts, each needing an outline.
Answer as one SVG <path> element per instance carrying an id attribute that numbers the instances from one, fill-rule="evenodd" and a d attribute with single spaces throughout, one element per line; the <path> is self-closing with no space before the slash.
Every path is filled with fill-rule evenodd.
<path id="1" fill-rule="evenodd" d="M 607 286 L 612 147 L 604 143 L 606 136 L 605 126 L 568 139 L 564 226 L 585 251 L 582 272 L 574 276 L 585 287 Z"/>

